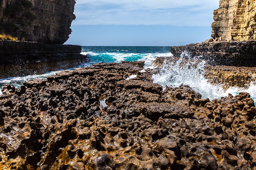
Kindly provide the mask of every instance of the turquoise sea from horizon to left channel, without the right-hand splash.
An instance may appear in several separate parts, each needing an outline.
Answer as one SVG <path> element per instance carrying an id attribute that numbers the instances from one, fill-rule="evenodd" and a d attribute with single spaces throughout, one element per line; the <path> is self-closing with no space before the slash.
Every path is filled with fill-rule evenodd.
<path id="1" fill-rule="evenodd" d="M 82 63 L 80 67 L 87 67 L 94 63 L 109 63 L 121 61 L 145 61 L 145 68 L 153 68 L 152 62 L 158 56 L 170 56 L 170 47 L 111 47 L 111 46 L 84 46 L 82 47 L 83 55 L 88 56 L 88 61 Z M 74 68 L 69 68 L 72 70 Z M 2 85 L 11 83 L 16 88 L 20 87 L 24 82 L 31 79 L 46 79 L 49 75 L 55 75 L 58 71 L 49 71 L 41 75 L 27 75 L 21 77 L 12 77 L 7 79 L 0 79 L 0 89 Z M 1 94 L 1 90 L 0 90 Z"/>

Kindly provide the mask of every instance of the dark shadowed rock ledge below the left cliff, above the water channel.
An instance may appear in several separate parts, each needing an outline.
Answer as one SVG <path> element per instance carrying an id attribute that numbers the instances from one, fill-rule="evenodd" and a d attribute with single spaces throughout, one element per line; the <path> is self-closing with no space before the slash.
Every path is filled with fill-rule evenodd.
<path id="1" fill-rule="evenodd" d="M 0 40 L 0 78 L 43 74 L 86 62 L 81 46 Z"/>

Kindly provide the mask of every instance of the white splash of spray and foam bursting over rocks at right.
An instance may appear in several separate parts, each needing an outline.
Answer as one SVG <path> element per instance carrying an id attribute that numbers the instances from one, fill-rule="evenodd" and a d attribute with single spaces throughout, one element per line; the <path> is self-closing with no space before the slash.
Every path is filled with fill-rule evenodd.
<path id="1" fill-rule="evenodd" d="M 154 83 L 168 87 L 179 87 L 188 85 L 193 90 L 202 95 L 202 98 L 219 99 L 221 97 L 232 94 L 238 95 L 239 92 L 248 92 L 254 101 L 256 101 L 256 85 L 250 84 L 248 89 L 239 87 L 230 87 L 226 91 L 221 87 L 221 84 L 210 84 L 204 78 L 205 61 L 200 61 L 197 57 L 190 57 L 186 52 L 181 54 L 179 60 L 167 60 L 163 63 L 163 68 L 159 73 L 153 75 Z"/>

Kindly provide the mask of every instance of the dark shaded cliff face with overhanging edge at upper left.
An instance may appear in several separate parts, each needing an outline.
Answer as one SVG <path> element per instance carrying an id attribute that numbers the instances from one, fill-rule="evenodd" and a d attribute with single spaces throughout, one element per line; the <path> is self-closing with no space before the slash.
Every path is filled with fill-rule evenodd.
<path id="1" fill-rule="evenodd" d="M 74 5 L 75 0 L 0 0 L 0 33 L 63 44 L 75 19 Z"/>

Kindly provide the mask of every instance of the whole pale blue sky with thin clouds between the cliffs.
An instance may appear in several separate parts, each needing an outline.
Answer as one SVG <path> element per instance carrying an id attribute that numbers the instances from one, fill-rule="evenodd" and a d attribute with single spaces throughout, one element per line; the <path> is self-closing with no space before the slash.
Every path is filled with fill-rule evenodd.
<path id="1" fill-rule="evenodd" d="M 66 44 L 174 46 L 211 38 L 219 0 L 76 0 Z"/>

